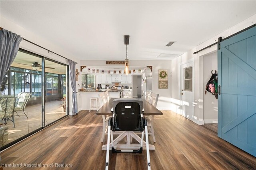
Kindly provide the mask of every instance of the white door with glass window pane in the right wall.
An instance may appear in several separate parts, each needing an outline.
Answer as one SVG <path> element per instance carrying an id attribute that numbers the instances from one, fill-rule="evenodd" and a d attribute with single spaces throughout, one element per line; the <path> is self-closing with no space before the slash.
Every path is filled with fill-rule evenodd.
<path id="1" fill-rule="evenodd" d="M 193 120 L 193 86 L 194 86 L 194 69 L 193 62 L 185 63 L 180 66 L 180 101 L 182 107 L 182 115 L 190 120 Z"/>

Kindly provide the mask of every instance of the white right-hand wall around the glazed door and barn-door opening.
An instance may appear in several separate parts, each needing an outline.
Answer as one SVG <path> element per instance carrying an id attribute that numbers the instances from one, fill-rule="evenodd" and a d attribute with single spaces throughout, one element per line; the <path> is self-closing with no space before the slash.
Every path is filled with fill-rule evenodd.
<path id="1" fill-rule="evenodd" d="M 199 53 L 193 54 L 195 51 L 198 51 L 208 45 L 211 45 L 214 42 L 218 42 L 218 38 L 222 36 L 226 38 L 244 28 L 247 28 L 256 23 L 256 15 L 251 16 L 250 18 L 236 24 L 232 28 L 225 30 L 224 32 L 214 36 L 213 38 L 207 40 L 204 43 L 196 46 L 190 51 L 184 53 L 183 55 L 172 60 L 172 77 L 171 77 L 171 86 L 172 86 L 172 96 L 171 96 L 171 110 L 180 114 L 180 64 L 188 61 L 189 59 L 194 58 L 194 102 L 190 103 L 194 106 L 194 123 L 198 125 L 204 124 L 204 62 L 203 57 L 210 53 L 217 51 L 217 45 L 213 45 L 210 48 L 207 48 Z"/>

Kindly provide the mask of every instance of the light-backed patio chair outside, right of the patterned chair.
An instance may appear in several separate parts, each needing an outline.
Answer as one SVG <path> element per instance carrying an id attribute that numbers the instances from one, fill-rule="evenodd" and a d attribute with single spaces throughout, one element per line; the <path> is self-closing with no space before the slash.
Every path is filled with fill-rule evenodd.
<path id="1" fill-rule="evenodd" d="M 30 93 L 18 93 L 16 105 L 14 108 L 14 111 L 17 113 L 18 111 L 23 111 L 24 115 L 28 118 L 28 116 L 25 113 L 25 107 L 28 103 L 28 99 L 30 98 Z M 17 115 L 20 117 L 20 115 L 17 113 Z"/>

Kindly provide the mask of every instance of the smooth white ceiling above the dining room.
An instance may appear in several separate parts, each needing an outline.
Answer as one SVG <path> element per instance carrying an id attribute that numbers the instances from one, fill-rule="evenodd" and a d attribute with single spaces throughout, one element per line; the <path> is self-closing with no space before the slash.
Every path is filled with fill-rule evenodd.
<path id="1" fill-rule="evenodd" d="M 81 60 L 123 60 L 124 35 L 128 59 L 171 59 L 256 14 L 256 1 L 244 0 L 1 0 L 0 6 L 1 16 Z M 166 47 L 169 41 L 175 43 Z"/>

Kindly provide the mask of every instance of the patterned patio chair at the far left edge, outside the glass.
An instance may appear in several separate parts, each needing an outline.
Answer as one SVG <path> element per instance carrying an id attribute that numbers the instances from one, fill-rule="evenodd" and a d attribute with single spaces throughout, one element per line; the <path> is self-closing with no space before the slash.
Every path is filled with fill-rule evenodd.
<path id="1" fill-rule="evenodd" d="M 0 96 L 0 119 L 4 120 L 4 124 L 7 124 L 7 120 L 12 118 L 13 126 L 15 127 L 14 123 L 14 104 L 15 104 L 16 97 L 3 95 Z"/>

